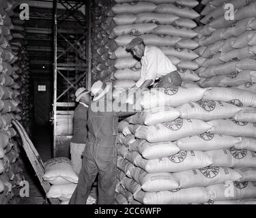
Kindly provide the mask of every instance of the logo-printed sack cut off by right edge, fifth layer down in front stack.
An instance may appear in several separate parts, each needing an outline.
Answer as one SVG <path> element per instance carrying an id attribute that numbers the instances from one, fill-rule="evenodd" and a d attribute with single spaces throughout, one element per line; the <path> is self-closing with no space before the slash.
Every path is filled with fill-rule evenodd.
<path id="1" fill-rule="evenodd" d="M 223 149 L 205 151 L 212 157 L 212 166 L 223 166 L 226 168 L 256 168 L 256 153 L 248 150 Z"/>

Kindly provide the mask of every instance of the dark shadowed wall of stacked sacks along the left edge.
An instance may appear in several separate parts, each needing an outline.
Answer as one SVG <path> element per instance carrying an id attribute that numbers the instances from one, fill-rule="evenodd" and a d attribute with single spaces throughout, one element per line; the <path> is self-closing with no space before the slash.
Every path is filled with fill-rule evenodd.
<path id="1" fill-rule="evenodd" d="M 10 16 L 16 1 L 0 2 L 0 204 L 16 204 L 23 187 L 23 163 L 19 157 L 13 119 L 20 119 L 20 83 L 16 70 L 18 53 L 12 49 L 15 28 Z"/>

